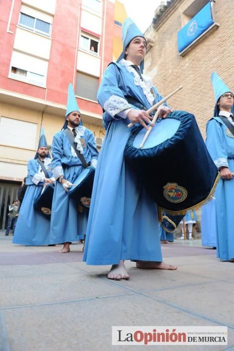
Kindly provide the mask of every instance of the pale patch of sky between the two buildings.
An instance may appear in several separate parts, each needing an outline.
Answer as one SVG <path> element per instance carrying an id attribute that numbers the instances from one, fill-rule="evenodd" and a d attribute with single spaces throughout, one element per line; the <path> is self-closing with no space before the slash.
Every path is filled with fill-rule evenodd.
<path id="1" fill-rule="evenodd" d="M 145 32 L 151 25 L 154 11 L 162 0 L 120 0 L 127 11 L 128 17 L 136 23 L 137 27 Z M 166 3 L 166 1 L 164 1 Z"/>

